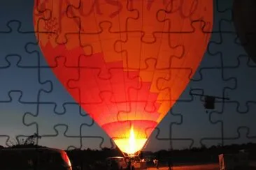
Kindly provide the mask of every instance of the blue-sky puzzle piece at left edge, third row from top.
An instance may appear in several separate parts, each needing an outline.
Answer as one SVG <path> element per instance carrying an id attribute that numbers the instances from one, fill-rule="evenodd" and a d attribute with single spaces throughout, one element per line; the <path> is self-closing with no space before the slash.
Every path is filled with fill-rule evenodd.
<path id="1" fill-rule="evenodd" d="M 39 89 L 48 92 L 52 87 L 50 86 L 49 88 L 50 82 L 40 82 L 38 68 L 18 67 L 20 60 L 20 56 L 8 56 L 6 58 L 9 63 L 8 68 L 0 69 L 1 91 L 3 91 L 0 100 L 8 100 L 7 93 L 9 91 L 22 91 L 22 101 L 36 102 Z M 15 78 L 10 77 L 11 75 L 15 75 Z M 34 88 L 31 88 L 32 84 Z"/>

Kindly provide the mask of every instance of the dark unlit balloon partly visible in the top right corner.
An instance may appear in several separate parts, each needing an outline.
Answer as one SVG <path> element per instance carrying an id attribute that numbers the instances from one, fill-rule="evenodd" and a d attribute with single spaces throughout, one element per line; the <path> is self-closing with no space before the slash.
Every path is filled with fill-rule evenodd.
<path id="1" fill-rule="evenodd" d="M 239 40 L 251 59 L 256 63 L 256 1 L 234 0 L 233 20 Z"/>

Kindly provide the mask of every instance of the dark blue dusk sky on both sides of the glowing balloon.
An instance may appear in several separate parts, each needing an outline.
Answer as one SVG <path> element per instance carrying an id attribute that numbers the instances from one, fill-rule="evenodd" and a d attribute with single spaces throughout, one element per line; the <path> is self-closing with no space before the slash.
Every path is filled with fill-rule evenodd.
<path id="1" fill-rule="evenodd" d="M 213 34 L 198 71 L 144 150 L 256 140 L 256 65 L 236 40 L 232 0 L 214 3 Z M 38 132 L 43 146 L 111 147 L 104 130 L 90 116 L 81 116 L 86 112 L 48 68 L 33 33 L 33 6 L 32 0 L 0 2 L 0 145 L 6 146 L 7 137 L 15 142 L 17 135 Z M 216 99 L 215 109 L 206 113 L 204 98 L 192 97 L 191 89 L 230 100 L 223 104 Z"/>

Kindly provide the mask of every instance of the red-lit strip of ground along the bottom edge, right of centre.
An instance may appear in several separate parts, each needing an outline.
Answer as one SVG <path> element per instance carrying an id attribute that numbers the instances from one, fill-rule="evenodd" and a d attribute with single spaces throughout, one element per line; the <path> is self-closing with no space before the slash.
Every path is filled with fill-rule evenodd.
<path id="1" fill-rule="evenodd" d="M 218 170 L 219 164 L 202 164 L 202 165 L 190 165 L 173 167 L 172 170 Z M 156 168 L 148 168 L 148 170 L 156 170 Z M 159 167 L 159 170 L 168 170 L 168 167 Z"/>

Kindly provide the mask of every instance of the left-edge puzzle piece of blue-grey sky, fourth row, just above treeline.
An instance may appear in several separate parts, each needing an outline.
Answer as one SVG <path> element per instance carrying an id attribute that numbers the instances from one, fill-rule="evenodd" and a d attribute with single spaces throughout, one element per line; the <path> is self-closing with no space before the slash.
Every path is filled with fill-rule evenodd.
<path id="1" fill-rule="evenodd" d="M 0 135 L 10 137 L 3 143 L 7 146 L 11 145 L 10 142 L 17 144 L 15 136 L 18 134 L 30 135 L 36 132 L 36 126 L 24 126 L 22 116 L 26 111 L 36 111 L 37 103 L 22 102 L 22 95 L 22 91 L 9 91 L 8 99 L 0 101 Z"/>

